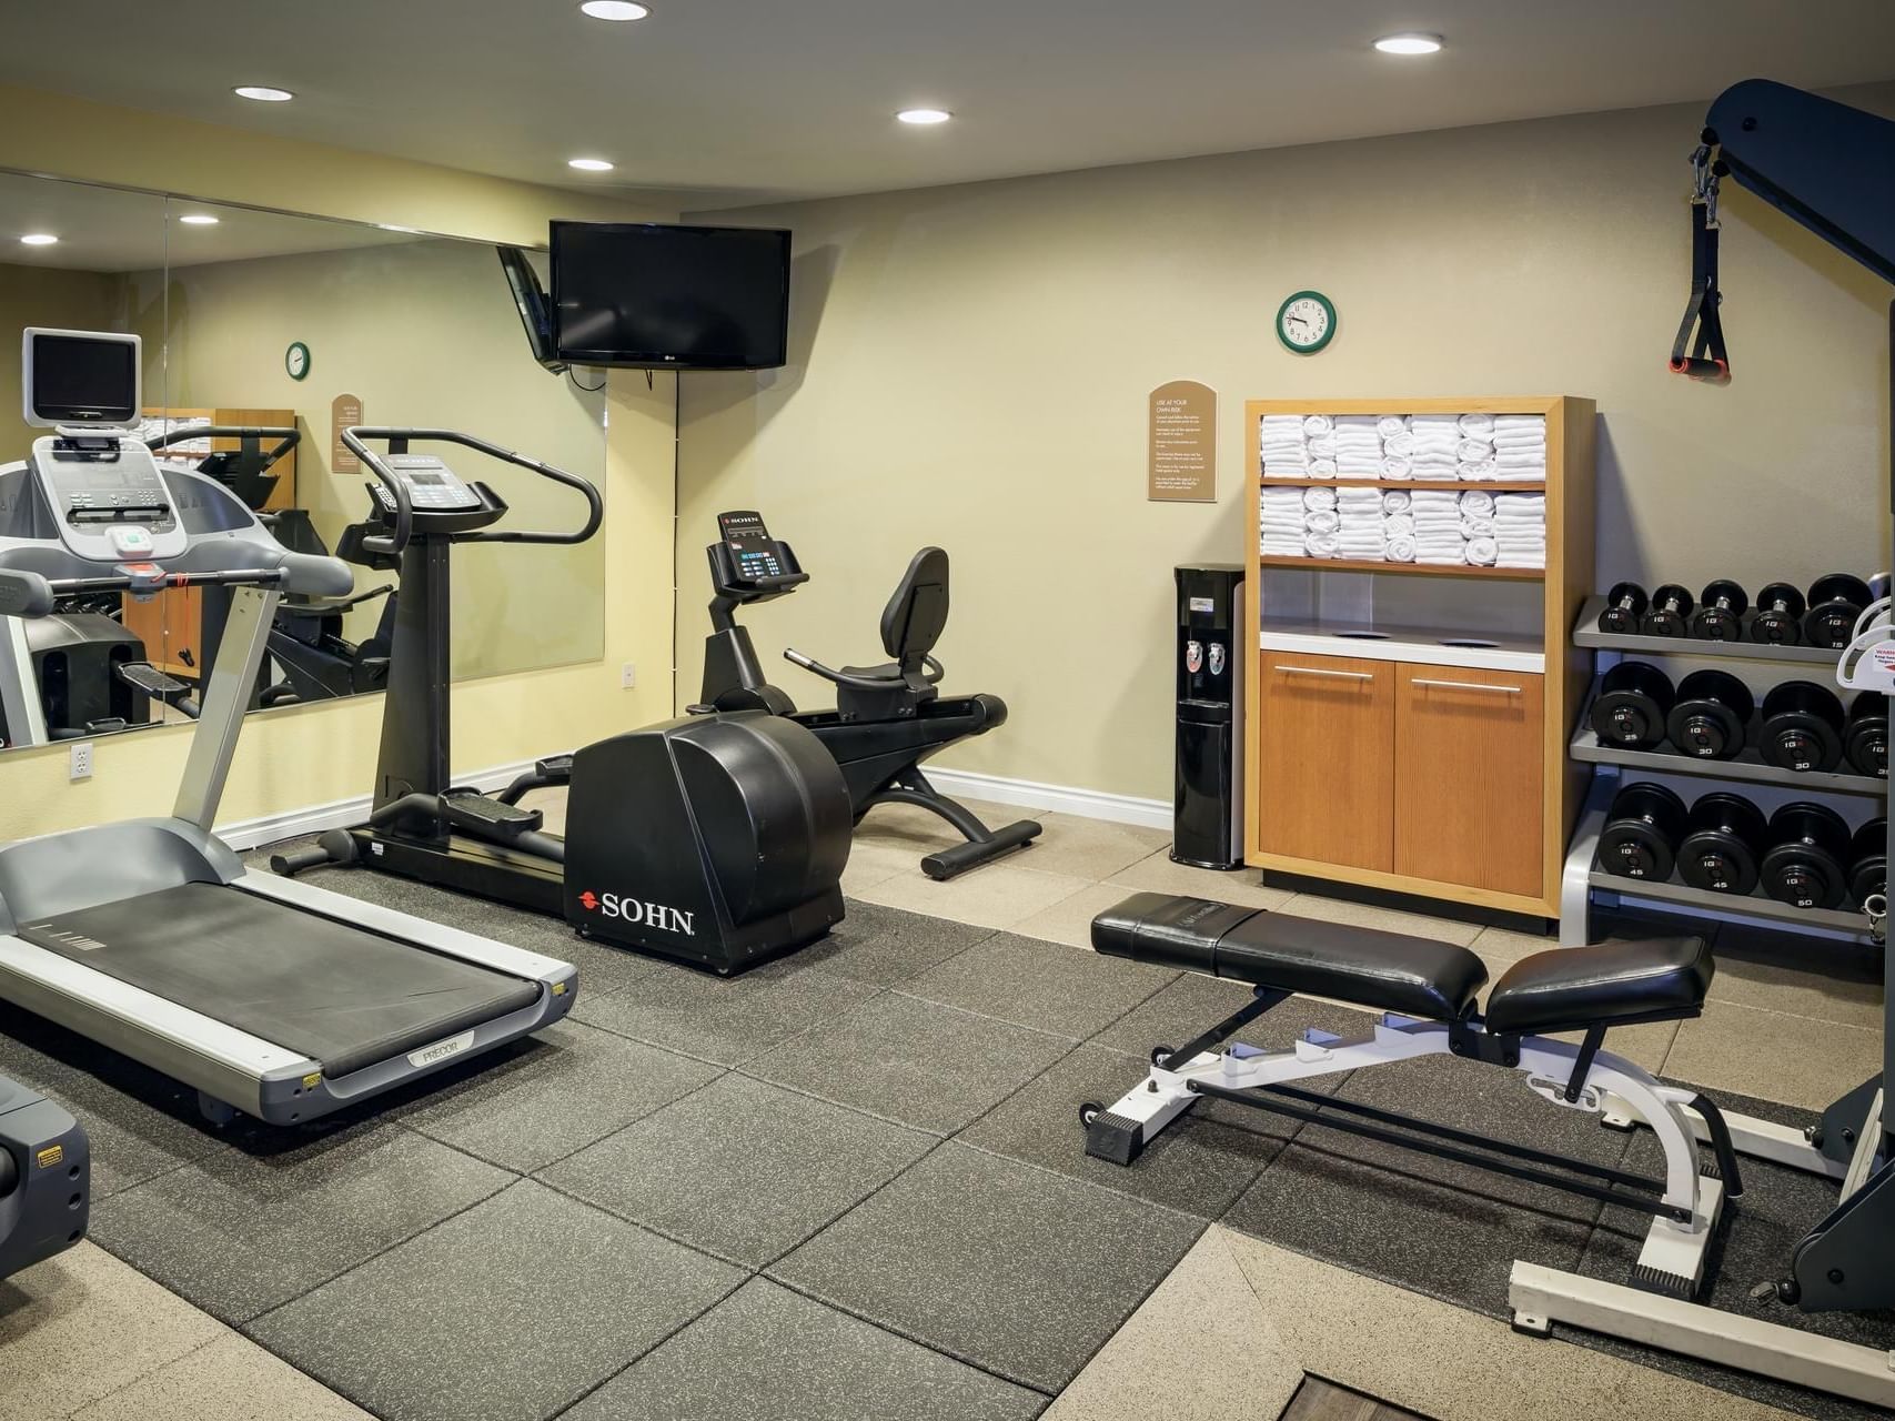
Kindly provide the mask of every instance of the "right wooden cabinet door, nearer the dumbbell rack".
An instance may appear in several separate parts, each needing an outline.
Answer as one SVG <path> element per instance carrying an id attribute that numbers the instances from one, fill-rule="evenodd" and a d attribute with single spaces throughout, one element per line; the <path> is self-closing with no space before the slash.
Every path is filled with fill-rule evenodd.
<path id="1" fill-rule="evenodd" d="M 1402 665 L 1399 682 L 1395 872 L 1539 898 L 1543 678 Z"/>

